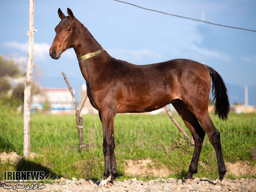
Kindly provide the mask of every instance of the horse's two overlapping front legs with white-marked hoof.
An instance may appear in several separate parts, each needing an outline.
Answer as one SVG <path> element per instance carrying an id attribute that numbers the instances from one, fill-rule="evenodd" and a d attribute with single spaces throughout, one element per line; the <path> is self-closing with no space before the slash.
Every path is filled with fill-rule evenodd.
<path id="1" fill-rule="evenodd" d="M 114 117 L 116 115 L 116 108 L 102 108 L 99 115 L 103 127 L 103 154 L 105 158 L 105 169 L 100 185 L 111 186 L 113 179 L 117 176 L 114 155 Z"/>

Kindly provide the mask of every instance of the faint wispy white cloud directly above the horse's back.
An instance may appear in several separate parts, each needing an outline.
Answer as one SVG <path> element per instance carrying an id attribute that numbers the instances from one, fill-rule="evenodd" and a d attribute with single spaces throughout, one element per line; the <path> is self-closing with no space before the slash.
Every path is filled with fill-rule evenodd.
<path id="1" fill-rule="evenodd" d="M 145 58 L 153 58 L 153 59 L 161 59 L 163 58 L 162 55 L 157 54 L 153 51 L 150 51 L 148 49 L 137 49 L 137 50 L 128 50 L 128 49 L 114 49 L 109 48 L 108 53 L 116 58 L 121 60 L 136 60 L 136 61 L 142 61 Z"/>

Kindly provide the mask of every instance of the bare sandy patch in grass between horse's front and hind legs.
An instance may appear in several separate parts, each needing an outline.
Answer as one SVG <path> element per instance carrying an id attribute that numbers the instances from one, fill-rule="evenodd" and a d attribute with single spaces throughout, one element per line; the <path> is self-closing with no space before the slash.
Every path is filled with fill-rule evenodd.
<path id="1" fill-rule="evenodd" d="M 130 176 L 168 177 L 171 173 L 166 165 L 158 167 L 151 159 L 126 160 L 124 168 L 125 174 Z"/>

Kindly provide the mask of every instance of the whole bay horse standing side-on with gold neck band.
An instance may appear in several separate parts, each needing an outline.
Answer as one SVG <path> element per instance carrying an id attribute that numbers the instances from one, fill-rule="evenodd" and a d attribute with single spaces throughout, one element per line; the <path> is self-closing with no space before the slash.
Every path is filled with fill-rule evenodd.
<path id="1" fill-rule="evenodd" d="M 79 67 L 87 85 L 92 106 L 99 111 L 103 127 L 105 167 L 100 185 L 111 186 L 118 176 L 115 161 L 114 117 L 116 113 L 142 113 L 160 109 L 172 103 L 195 141 L 195 150 L 185 183 L 197 173 L 205 132 L 213 145 L 218 162 L 219 181 L 226 168 L 221 151 L 220 132 L 208 113 L 211 81 L 215 113 L 227 119 L 230 105 L 225 83 L 219 73 L 207 65 L 188 59 L 173 59 L 150 65 L 133 65 L 111 57 L 93 38 L 88 29 L 68 9 L 65 16 L 60 8 L 60 23 L 50 56 L 59 59 L 74 48 Z"/>

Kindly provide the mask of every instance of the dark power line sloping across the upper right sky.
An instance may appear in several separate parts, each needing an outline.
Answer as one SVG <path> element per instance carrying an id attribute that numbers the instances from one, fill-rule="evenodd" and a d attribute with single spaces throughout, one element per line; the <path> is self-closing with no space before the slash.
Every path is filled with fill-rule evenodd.
<path id="1" fill-rule="evenodd" d="M 148 9 L 148 8 L 141 7 L 141 6 L 138 6 L 138 5 L 134 5 L 132 3 L 128 3 L 128 2 L 124 2 L 124 1 L 119 1 L 119 0 L 114 0 L 114 1 L 117 1 L 117 2 L 120 2 L 120 3 L 126 3 L 126 4 L 129 4 L 129 5 L 133 5 L 135 7 L 139 7 L 139 8 L 142 8 L 142 9 L 146 9 L 146 10 L 150 10 L 150 11 L 154 11 L 154 12 L 158 12 L 158 13 L 163 13 L 163 14 L 171 15 L 171 16 L 175 16 L 175 17 L 190 19 L 190 20 L 194 20 L 194 21 L 200 21 L 200 22 L 204 22 L 204 23 L 208 23 L 208 24 L 212 24 L 212 25 L 217 25 L 217 26 L 222 26 L 222 27 L 228 27 L 228 28 L 233 28 L 233 29 L 241 29 L 241 30 L 256 32 L 256 30 L 252 30 L 252 29 L 245 29 L 245 28 L 241 28 L 241 27 L 232 27 L 232 26 L 228 26 L 228 25 L 221 25 L 221 24 L 211 23 L 211 22 L 208 22 L 208 21 L 200 20 L 200 19 L 194 19 L 194 18 L 190 18 L 190 17 L 183 17 L 183 16 L 180 16 L 180 15 L 165 13 L 165 12 L 162 12 L 162 11 L 158 11 L 158 10 L 154 10 L 154 9 Z"/>

